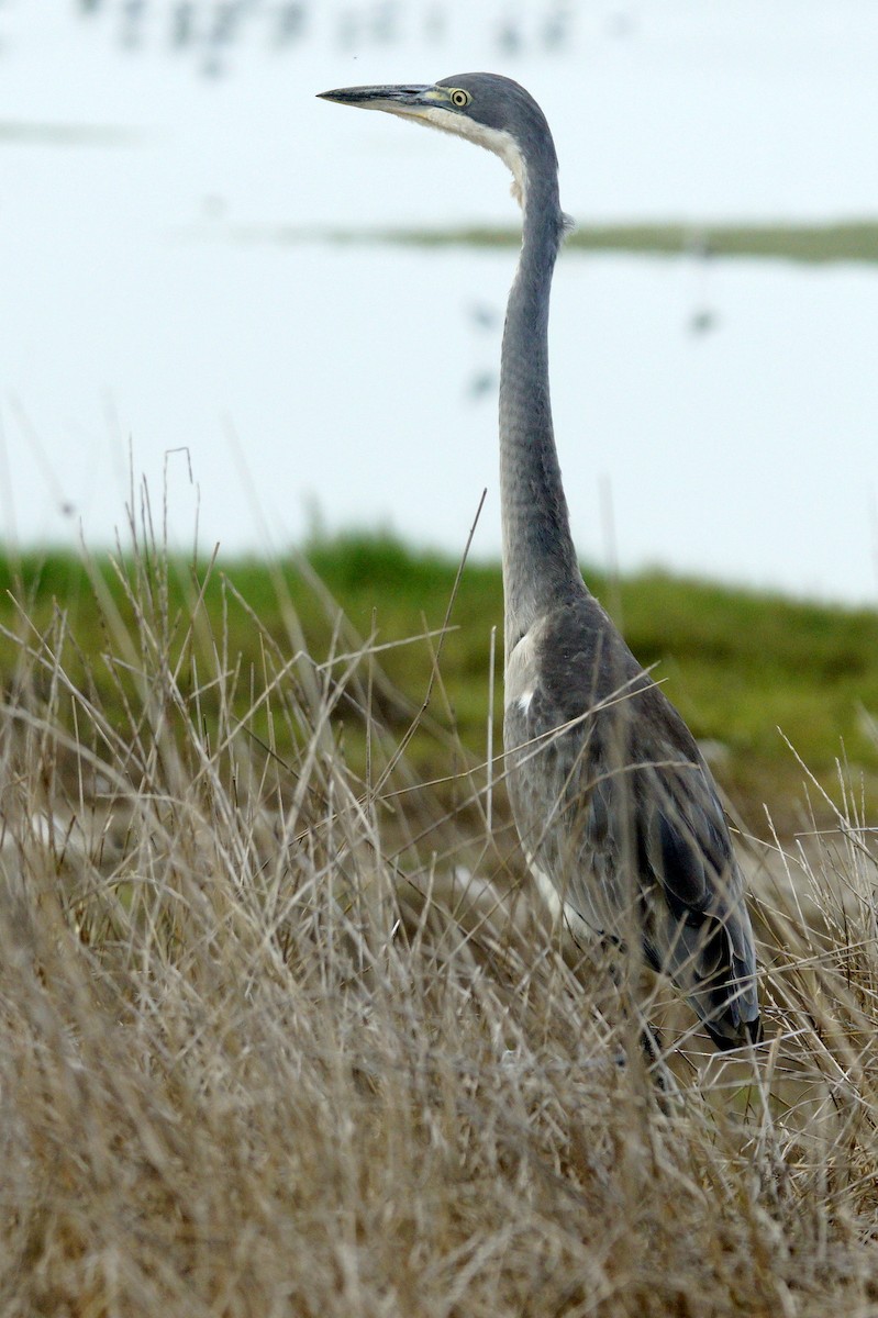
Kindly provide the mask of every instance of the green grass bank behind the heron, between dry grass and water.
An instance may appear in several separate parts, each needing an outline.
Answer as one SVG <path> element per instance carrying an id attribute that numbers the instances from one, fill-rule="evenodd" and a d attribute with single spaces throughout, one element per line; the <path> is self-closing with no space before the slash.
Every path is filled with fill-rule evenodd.
<path id="1" fill-rule="evenodd" d="M 4 556 L 4 687 L 16 683 L 22 641 L 44 647 L 63 659 L 75 681 L 94 689 L 95 702 L 121 726 L 138 659 L 116 654 L 112 618 L 120 634 L 131 634 L 132 610 L 140 605 L 125 587 L 129 571 L 109 558 L 87 565 L 58 552 L 15 561 Z M 236 717 L 254 746 L 285 758 L 294 730 L 273 726 L 268 702 L 254 692 L 264 681 L 266 637 L 277 646 L 278 663 L 291 658 L 294 618 L 320 680 L 327 689 L 337 684 L 334 733 L 357 774 L 366 770 L 366 725 L 402 739 L 430 688 L 409 758 L 424 779 L 448 779 L 443 791 L 454 800 L 461 757 L 471 766 L 486 757 L 493 627 L 496 754 L 502 717 L 500 567 L 467 563 L 455 593 L 456 573 L 450 558 L 370 534 L 316 540 L 305 555 L 272 564 L 157 561 L 150 590 L 166 635 L 156 643 L 177 655 L 181 689 L 210 729 L 219 718 L 218 697 L 199 679 L 199 652 L 214 656 L 221 637 L 224 670 L 235 675 Z M 878 613 L 658 571 L 610 584 L 587 569 L 587 580 L 638 659 L 654 666 L 747 826 L 765 829 L 763 805 L 786 833 L 809 826 L 803 764 L 829 799 L 809 783 L 823 822 L 832 817 L 831 803 L 844 804 L 842 783 L 856 801 L 878 801 Z M 352 658 L 364 647 L 365 655 Z M 361 699 L 352 697 L 345 679 L 352 667 L 363 670 Z"/>

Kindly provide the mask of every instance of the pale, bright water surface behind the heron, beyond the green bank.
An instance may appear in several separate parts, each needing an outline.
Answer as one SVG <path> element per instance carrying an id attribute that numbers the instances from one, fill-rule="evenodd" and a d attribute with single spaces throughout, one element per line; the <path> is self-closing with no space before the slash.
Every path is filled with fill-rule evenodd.
<path id="1" fill-rule="evenodd" d="M 518 78 L 583 220 L 878 214 L 878 5 L 592 4 L 559 50 L 522 7 L 518 54 L 501 8 L 447 5 L 436 43 L 413 5 L 397 41 L 341 45 L 326 5 L 307 41 L 254 33 L 221 78 L 158 21 L 120 49 L 121 5 L 0 9 L 7 539 L 111 542 L 131 445 L 156 505 L 167 471 L 181 544 L 199 503 L 204 548 L 282 548 L 316 510 L 456 551 L 488 486 L 475 550 L 497 552 L 514 253 L 274 239 L 514 221 L 502 166 L 324 87 Z M 878 268 L 567 253 L 552 389 L 583 556 L 874 601 L 877 343 Z"/>

